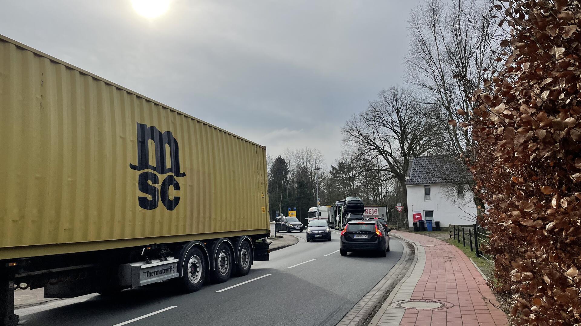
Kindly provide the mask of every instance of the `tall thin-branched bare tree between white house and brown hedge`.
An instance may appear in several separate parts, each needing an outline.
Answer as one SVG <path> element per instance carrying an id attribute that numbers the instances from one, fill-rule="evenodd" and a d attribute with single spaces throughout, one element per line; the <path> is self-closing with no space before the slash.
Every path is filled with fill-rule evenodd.
<path id="1" fill-rule="evenodd" d="M 478 0 L 428 0 L 408 20 L 407 82 L 424 94 L 425 115 L 439 130 L 436 153 L 465 171 L 466 161 L 474 161 L 475 143 L 464 113 L 474 110 L 472 93 L 498 64 L 494 59 L 501 30 L 488 9 L 489 3 Z M 473 189 L 474 180 L 470 173 L 455 173 L 450 184 L 451 191 L 465 185 Z M 475 204 L 483 207 L 478 195 Z"/>

